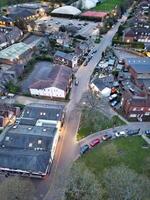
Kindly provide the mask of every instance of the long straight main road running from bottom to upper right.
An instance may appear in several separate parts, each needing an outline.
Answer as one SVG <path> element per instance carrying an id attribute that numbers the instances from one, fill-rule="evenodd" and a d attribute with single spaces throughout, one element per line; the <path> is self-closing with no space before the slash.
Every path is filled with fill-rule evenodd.
<path id="1" fill-rule="evenodd" d="M 100 61 L 102 52 L 107 46 L 111 45 L 112 38 L 117 32 L 120 23 L 125 20 L 126 17 L 123 16 L 114 28 L 103 37 L 100 44 L 96 46 L 97 53 L 93 55 L 86 67 L 81 67 L 76 73 L 79 85 L 73 86 L 71 100 L 66 106 L 65 124 L 61 133 L 61 139 L 57 145 L 50 176 L 48 176 L 44 181 L 37 181 L 37 190 L 41 192 L 40 195 L 38 194 L 38 199 L 63 199 L 66 177 L 73 160 L 79 152 L 79 145 L 75 138 L 80 122 L 80 112 L 76 109 L 77 103 L 80 101 L 83 93 L 88 89 L 90 76 Z M 45 195 L 44 193 L 46 190 L 48 190 L 48 192 Z"/>

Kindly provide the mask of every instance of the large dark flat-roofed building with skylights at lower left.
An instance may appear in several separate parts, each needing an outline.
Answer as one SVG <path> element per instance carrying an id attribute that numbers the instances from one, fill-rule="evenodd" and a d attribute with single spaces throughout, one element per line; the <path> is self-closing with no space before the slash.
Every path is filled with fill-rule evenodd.
<path id="1" fill-rule="evenodd" d="M 27 105 L 16 124 L 2 133 L 0 172 L 34 178 L 49 174 L 63 116 L 63 105 Z"/>

